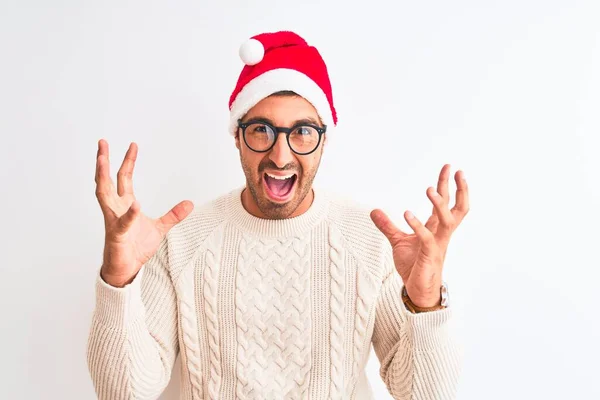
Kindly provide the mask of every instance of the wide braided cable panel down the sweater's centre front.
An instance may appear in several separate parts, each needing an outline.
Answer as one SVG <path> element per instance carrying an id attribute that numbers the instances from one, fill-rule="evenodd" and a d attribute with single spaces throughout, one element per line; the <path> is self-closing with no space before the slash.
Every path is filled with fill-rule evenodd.
<path id="1" fill-rule="evenodd" d="M 237 268 L 238 397 L 303 399 L 311 367 L 310 236 L 245 234 Z"/>

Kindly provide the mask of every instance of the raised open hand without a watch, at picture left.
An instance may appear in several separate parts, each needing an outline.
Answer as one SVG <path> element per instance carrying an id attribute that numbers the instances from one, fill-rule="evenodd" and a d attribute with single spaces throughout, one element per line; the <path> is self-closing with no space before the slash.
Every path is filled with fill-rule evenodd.
<path id="1" fill-rule="evenodd" d="M 167 232 L 193 210 L 185 200 L 158 219 L 140 211 L 133 194 L 133 168 L 138 148 L 131 143 L 117 174 L 117 188 L 110 178 L 108 143 L 98 142 L 96 156 L 96 198 L 104 214 L 104 258 L 100 274 L 106 283 L 123 287 L 135 278 L 140 268 L 156 253 Z"/>

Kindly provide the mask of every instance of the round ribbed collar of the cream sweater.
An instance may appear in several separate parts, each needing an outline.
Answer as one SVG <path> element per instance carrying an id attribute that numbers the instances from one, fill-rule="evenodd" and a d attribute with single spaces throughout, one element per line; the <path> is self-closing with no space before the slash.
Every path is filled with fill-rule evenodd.
<path id="1" fill-rule="evenodd" d="M 242 204 L 242 191 L 239 187 L 229 194 L 228 211 L 230 220 L 242 231 L 258 236 L 284 237 L 307 233 L 321 222 L 329 206 L 326 194 L 314 188 L 314 198 L 309 209 L 301 215 L 285 219 L 265 219 L 255 217 Z"/>

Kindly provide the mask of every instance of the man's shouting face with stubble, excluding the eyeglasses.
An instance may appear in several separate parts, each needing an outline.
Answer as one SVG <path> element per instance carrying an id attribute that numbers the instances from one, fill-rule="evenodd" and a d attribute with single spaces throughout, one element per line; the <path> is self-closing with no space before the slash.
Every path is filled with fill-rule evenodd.
<path id="1" fill-rule="evenodd" d="M 275 127 L 291 128 L 298 121 L 320 121 L 315 108 L 300 96 L 270 96 L 256 104 L 244 116 L 242 122 L 261 119 Z M 322 124 L 317 123 L 322 126 Z M 240 160 L 246 175 L 247 187 L 258 211 L 265 218 L 288 218 L 302 205 L 310 205 L 312 183 L 317 174 L 321 155 L 322 138 L 317 150 L 308 155 L 294 153 L 285 133 L 277 136 L 275 145 L 265 153 L 257 153 L 246 145 L 242 130 L 235 139 L 240 150 Z M 283 179 L 290 176 L 288 179 Z M 280 179 L 277 179 L 280 178 Z M 308 204 L 307 201 L 309 202 Z"/>

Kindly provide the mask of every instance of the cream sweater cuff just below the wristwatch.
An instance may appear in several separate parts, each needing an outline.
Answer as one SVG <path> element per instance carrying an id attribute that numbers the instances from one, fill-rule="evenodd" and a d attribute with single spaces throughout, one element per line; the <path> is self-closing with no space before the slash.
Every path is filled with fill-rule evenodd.
<path id="1" fill-rule="evenodd" d="M 435 350 L 449 343 L 452 309 L 446 308 L 418 314 L 406 311 L 406 316 L 416 350 Z"/>

